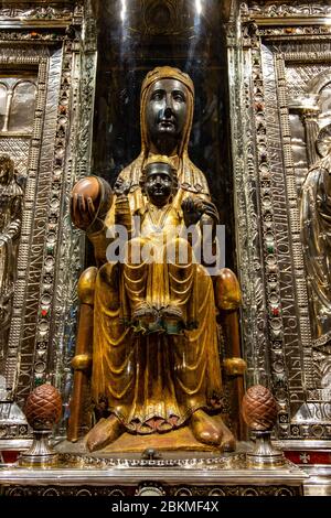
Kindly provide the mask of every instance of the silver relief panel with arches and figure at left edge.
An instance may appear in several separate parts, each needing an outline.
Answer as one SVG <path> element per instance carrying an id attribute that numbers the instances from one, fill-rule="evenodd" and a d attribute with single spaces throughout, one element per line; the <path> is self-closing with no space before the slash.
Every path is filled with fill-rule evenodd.
<path id="1" fill-rule="evenodd" d="M 0 215 L 0 361 L 7 356 L 17 259 L 22 223 L 23 190 L 35 107 L 35 76 L 19 73 L 3 75 L 1 86 L 0 149 L 9 151 L 1 161 Z M 11 159 L 14 158 L 14 160 Z M 6 171 L 7 170 L 7 175 Z M 9 183 L 6 177 L 9 177 Z M 3 183 L 4 182 L 4 183 Z M 2 361 L 1 361 L 2 363 Z M 3 371 L 1 366 L 0 371 Z"/>

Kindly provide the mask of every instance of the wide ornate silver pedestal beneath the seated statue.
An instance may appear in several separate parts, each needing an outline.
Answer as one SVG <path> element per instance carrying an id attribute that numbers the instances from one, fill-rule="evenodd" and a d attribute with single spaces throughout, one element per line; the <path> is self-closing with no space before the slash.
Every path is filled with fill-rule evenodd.
<path id="1" fill-rule="evenodd" d="M 245 453 L 162 452 L 146 461 L 138 454 L 60 453 L 57 467 L 0 470 L 2 495 L 38 497 L 300 496 L 307 478 L 288 461 L 279 468 L 249 468 Z"/>

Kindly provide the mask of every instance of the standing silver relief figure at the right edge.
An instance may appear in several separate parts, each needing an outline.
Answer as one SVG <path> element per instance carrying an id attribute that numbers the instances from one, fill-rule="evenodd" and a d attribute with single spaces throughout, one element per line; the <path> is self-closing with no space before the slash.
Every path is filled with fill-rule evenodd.
<path id="1" fill-rule="evenodd" d="M 303 182 L 300 218 L 313 348 L 327 355 L 328 364 L 331 355 L 331 126 L 320 131 L 317 148 L 322 159 L 310 169 Z M 323 375 L 323 388 L 329 385 L 329 368 Z"/>

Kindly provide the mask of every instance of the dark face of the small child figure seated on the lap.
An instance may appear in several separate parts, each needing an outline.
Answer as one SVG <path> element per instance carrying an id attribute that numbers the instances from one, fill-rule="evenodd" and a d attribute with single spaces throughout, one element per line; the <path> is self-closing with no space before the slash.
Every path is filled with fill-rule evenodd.
<path id="1" fill-rule="evenodd" d="M 153 205 L 162 207 L 172 194 L 172 171 L 169 164 L 156 162 L 146 169 L 145 190 Z"/>

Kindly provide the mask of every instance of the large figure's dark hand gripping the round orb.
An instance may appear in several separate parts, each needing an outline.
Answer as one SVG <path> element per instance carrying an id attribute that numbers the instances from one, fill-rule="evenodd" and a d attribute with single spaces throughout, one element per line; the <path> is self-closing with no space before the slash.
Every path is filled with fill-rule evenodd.
<path id="1" fill-rule="evenodd" d="M 79 180 L 71 197 L 71 216 L 74 225 L 86 230 L 94 222 L 100 203 L 100 185 L 96 176 Z"/>

